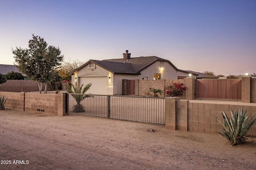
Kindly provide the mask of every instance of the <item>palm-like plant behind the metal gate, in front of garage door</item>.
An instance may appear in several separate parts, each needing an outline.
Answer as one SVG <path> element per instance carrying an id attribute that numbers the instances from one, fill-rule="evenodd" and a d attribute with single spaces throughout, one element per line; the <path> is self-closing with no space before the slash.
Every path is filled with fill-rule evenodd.
<path id="1" fill-rule="evenodd" d="M 71 86 L 69 86 L 68 84 L 65 84 L 67 92 L 71 93 L 71 95 L 73 96 L 73 98 L 76 100 L 76 105 L 73 106 L 73 111 L 74 112 L 84 112 L 84 106 L 81 104 L 82 100 L 84 100 L 84 98 L 91 98 L 93 97 L 90 94 L 85 94 L 85 92 L 87 92 L 87 90 L 90 89 L 90 87 L 92 86 L 91 83 L 88 83 L 86 86 L 84 86 L 84 84 L 82 84 L 82 86 L 78 86 L 77 82 L 75 82 L 75 84 L 71 83 Z M 84 86 L 84 88 L 83 88 Z M 74 94 L 76 93 L 76 94 Z"/>

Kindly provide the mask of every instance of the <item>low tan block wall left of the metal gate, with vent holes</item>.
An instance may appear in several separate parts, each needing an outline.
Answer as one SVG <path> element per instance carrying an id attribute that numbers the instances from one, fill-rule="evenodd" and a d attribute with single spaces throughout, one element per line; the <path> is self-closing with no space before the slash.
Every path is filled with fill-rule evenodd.
<path id="1" fill-rule="evenodd" d="M 53 115 L 68 115 L 66 113 L 66 93 L 35 94 L 26 92 L 0 92 L 7 98 L 4 107 L 29 112 L 44 112 Z"/>

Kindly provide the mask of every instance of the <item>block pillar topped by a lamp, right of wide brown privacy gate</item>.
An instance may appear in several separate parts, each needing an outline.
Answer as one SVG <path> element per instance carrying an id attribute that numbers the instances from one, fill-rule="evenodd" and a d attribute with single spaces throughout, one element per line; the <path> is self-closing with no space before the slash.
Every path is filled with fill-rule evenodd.
<path id="1" fill-rule="evenodd" d="M 242 102 L 250 103 L 250 80 L 251 77 L 242 77 Z"/>

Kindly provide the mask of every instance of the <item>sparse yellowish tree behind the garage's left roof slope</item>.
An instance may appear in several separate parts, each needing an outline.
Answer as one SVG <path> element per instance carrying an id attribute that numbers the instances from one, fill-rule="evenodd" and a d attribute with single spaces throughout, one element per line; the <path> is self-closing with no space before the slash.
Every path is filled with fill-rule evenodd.
<path id="1" fill-rule="evenodd" d="M 58 73 L 61 76 L 62 80 L 71 80 L 71 75 L 68 74 L 68 72 L 80 67 L 84 62 L 79 61 L 78 59 L 71 61 L 69 59 L 68 61 L 64 61 L 59 70 Z"/>

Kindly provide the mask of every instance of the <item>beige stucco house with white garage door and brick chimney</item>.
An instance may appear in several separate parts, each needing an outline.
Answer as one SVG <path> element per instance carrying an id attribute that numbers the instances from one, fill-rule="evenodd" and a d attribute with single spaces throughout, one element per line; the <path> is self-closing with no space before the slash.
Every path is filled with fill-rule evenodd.
<path id="1" fill-rule="evenodd" d="M 122 80 L 159 80 L 177 79 L 178 68 L 170 61 L 156 56 L 131 57 L 131 53 L 123 53 L 120 59 L 89 60 L 82 66 L 69 72 L 72 83 L 79 86 L 92 83 L 88 93 L 121 95 Z M 179 70 L 182 72 L 182 70 Z M 183 71 L 184 72 L 184 71 Z M 186 72 L 188 74 L 188 72 Z"/>

